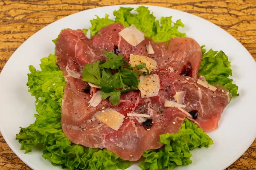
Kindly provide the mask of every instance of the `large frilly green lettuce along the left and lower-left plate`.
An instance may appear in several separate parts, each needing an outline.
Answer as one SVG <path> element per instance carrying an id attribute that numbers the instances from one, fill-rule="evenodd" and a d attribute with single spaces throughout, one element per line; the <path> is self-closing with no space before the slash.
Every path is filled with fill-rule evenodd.
<path id="1" fill-rule="evenodd" d="M 32 147 L 42 144 L 43 157 L 53 165 L 61 165 L 69 170 L 116 170 L 131 166 L 131 161 L 123 161 L 114 153 L 104 149 L 91 149 L 70 142 L 61 129 L 61 101 L 64 95 L 65 80 L 56 65 L 55 55 L 41 59 L 41 70 L 29 66 L 28 87 L 35 96 L 35 123 L 20 128 L 16 139 L 25 153 Z M 97 70 L 91 70 L 98 72 Z"/>

